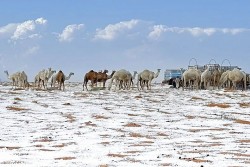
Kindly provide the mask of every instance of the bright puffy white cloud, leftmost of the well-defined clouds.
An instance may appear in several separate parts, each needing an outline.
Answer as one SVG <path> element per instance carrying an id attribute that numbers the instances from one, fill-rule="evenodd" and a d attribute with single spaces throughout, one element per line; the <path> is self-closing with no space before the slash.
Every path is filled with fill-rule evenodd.
<path id="1" fill-rule="evenodd" d="M 45 25 L 47 20 L 43 18 L 38 18 L 36 20 L 28 20 L 23 23 L 17 25 L 11 39 L 18 40 L 18 39 L 26 39 L 33 37 L 32 32 L 35 31 L 37 25 Z"/>

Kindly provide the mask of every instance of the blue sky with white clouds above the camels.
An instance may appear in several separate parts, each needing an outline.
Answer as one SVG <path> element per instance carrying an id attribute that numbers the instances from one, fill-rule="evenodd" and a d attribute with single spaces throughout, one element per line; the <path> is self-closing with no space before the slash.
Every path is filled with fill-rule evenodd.
<path id="1" fill-rule="evenodd" d="M 74 72 L 72 81 L 91 69 L 161 68 L 162 80 L 191 58 L 250 72 L 250 1 L 3 0 L 0 48 L 1 71 L 24 70 L 29 81 L 48 67 Z"/>

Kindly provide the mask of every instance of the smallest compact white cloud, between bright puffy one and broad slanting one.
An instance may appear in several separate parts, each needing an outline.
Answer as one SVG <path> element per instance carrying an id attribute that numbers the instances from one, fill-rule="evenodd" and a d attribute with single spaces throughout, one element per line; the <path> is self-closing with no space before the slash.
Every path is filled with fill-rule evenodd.
<path id="1" fill-rule="evenodd" d="M 59 37 L 59 41 L 60 42 L 70 42 L 73 40 L 74 38 L 74 34 L 76 33 L 76 31 L 79 31 L 81 29 L 84 28 L 84 24 L 72 24 L 72 25 L 68 25 L 67 27 L 65 27 L 65 29 L 63 30 L 63 32 L 61 34 L 58 35 Z"/>

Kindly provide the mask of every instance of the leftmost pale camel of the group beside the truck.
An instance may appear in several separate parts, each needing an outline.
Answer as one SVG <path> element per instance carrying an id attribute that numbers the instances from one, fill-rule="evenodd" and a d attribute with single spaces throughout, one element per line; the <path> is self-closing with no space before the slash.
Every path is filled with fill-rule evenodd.
<path id="1" fill-rule="evenodd" d="M 194 69 L 194 68 L 190 68 L 190 69 L 186 70 L 182 74 L 182 82 L 183 82 L 182 89 L 184 90 L 184 88 L 187 88 L 187 82 L 188 82 L 188 86 L 190 88 L 192 86 L 195 86 L 196 89 L 198 89 L 199 83 L 200 83 L 200 78 L 201 78 L 201 72 L 199 70 Z M 192 83 L 191 83 L 192 81 L 194 82 L 194 85 L 192 85 Z"/>

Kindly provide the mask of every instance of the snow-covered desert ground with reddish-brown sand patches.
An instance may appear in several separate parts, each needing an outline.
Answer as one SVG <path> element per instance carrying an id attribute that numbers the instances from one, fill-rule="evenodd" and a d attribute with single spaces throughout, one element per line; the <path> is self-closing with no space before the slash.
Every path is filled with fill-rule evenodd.
<path id="1" fill-rule="evenodd" d="M 250 166 L 249 90 L 0 95 L 0 166 Z"/>

